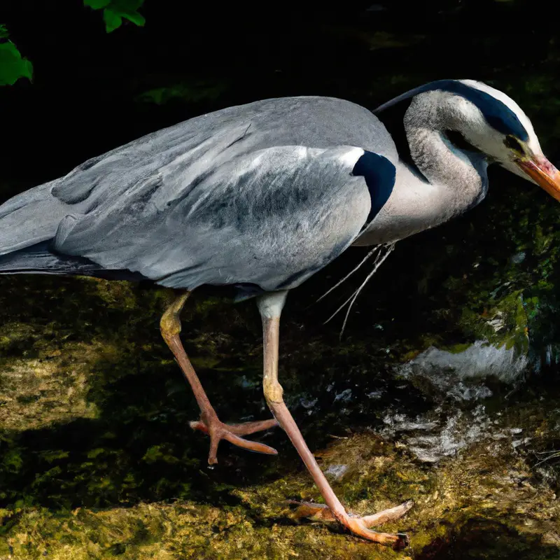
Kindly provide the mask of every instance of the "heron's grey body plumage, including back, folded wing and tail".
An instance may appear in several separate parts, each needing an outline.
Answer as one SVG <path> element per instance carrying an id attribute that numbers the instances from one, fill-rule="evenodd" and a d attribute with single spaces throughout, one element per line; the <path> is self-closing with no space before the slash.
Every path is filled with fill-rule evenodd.
<path id="1" fill-rule="evenodd" d="M 397 160 L 379 120 L 341 99 L 269 99 L 187 120 L 3 204 L 0 272 L 293 287 L 365 224 L 355 146 Z"/>

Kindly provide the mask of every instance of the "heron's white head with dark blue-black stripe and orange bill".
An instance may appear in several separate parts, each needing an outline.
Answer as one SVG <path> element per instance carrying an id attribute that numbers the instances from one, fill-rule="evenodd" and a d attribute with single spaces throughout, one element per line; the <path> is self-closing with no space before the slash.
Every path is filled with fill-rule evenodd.
<path id="1" fill-rule="evenodd" d="M 456 130 L 486 154 L 490 162 L 535 183 L 560 200 L 560 172 L 542 153 L 533 125 L 519 105 L 484 83 L 456 83 L 470 90 L 460 97 L 453 95 Z"/>

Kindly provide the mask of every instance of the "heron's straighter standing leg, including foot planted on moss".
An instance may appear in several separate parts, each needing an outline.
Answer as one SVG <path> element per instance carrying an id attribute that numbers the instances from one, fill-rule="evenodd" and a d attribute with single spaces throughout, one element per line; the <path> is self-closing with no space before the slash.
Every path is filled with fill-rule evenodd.
<path id="1" fill-rule="evenodd" d="M 286 296 L 283 295 L 284 299 L 285 297 Z M 274 414 L 280 426 L 288 434 L 288 437 L 295 449 L 297 449 L 307 470 L 309 470 L 311 477 L 313 477 L 315 484 L 321 492 L 326 507 L 330 510 L 329 514 L 327 514 L 327 512 L 325 512 L 325 506 L 317 505 L 317 507 L 312 507 L 309 503 L 302 504 L 307 506 L 306 517 L 316 514 L 316 519 L 334 518 L 346 526 L 346 528 L 349 528 L 352 533 L 360 537 L 379 542 L 383 545 L 391 545 L 395 549 L 405 547 L 408 542 L 406 535 L 377 533 L 376 531 L 370 531 L 369 527 L 398 519 L 398 517 L 404 515 L 412 507 L 412 502 L 405 502 L 402 505 L 391 508 L 391 510 L 384 510 L 378 514 L 368 515 L 366 517 L 356 517 L 347 513 L 335 492 L 330 487 L 325 475 L 323 475 L 315 457 L 311 451 L 309 451 L 309 447 L 307 447 L 303 439 L 300 428 L 297 427 L 288 407 L 284 404 L 283 389 L 278 381 L 279 325 L 282 306 L 283 300 L 281 300 L 280 293 L 270 293 L 260 296 L 258 300 L 258 307 L 262 317 L 264 353 L 264 377 L 262 379 L 262 385 L 265 398 L 272 414 Z"/>

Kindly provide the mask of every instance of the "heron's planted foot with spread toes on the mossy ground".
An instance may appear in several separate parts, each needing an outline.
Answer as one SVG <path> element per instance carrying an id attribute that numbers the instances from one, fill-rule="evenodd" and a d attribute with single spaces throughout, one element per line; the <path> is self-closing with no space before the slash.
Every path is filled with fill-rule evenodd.
<path id="1" fill-rule="evenodd" d="M 335 514 L 332 513 L 328 505 L 320 503 L 296 502 L 293 500 L 290 503 L 298 505 L 295 510 L 295 517 L 297 518 L 306 517 L 311 519 L 311 521 L 339 521 L 355 535 L 379 542 L 381 545 L 389 545 L 395 550 L 403 549 L 408 545 L 408 538 L 404 533 L 378 533 L 377 531 L 370 531 L 370 527 L 376 527 L 388 521 L 400 519 L 412 508 L 414 505 L 413 500 L 408 500 L 388 510 L 365 515 L 364 517 L 358 517 L 352 513 L 345 513 L 342 516 L 335 517 Z"/>

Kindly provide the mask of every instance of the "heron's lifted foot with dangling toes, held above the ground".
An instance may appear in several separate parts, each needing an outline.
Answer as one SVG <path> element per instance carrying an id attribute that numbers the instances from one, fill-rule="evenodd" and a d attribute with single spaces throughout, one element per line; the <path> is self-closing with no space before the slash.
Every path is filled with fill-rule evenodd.
<path id="1" fill-rule="evenodd" d="M 278 422 L 275 419 L 244 422 L 241 424 L 225 424 L 218 419 L 218 416 L 205 414 L 202 415 L 200 420 L 190 422 L 190 427 L 193 428 L 193 430 L 200 430 L 202 433 L 210 436 L 210 452 L 208 454 L 209 465 L 218 463 L 216 453 L 221 440 L 227 440 L 237 445 L 237 447 L 243 447 L 249 451 L 265 453 L 267 455 L 277 455 L 278 451 L 273 447 L 269 447 L 264 443 L 245 440 L 243 437 L 240 437 L 241 435 L 268 430 L 269 428 L 274 428 L 274 426 L 278 426 Z"/>

